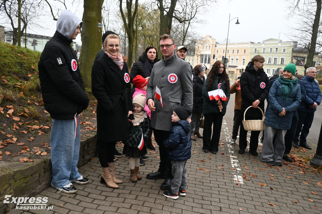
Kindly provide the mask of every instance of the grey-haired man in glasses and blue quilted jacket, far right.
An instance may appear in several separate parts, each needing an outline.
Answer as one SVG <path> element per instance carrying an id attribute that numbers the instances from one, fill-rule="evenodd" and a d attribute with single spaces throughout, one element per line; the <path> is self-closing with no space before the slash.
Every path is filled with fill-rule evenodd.
<path id="1" fill-rule="evenodd" d="M 298 108 L 298 126 L 293 142 L 295 148 L 312 149 L 308 146 L 306 137 L 313 122 L 314 112 L 317 111 L 317 106 L 321 103 L 322 97 L 319 84 L 315 81 L 315 76 L 317 76 L 317 70 L 315 67 L 309 67 L 306 69 L 306 76 L 301 79 L 304 82 L 306 99 L 301 102 Z"/>

